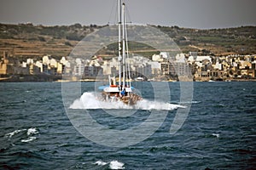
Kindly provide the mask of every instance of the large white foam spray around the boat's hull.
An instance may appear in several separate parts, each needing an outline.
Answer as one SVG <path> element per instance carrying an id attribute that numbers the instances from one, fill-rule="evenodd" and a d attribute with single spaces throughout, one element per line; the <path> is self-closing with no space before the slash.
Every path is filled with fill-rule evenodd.
<path id="1" fill-rule="evenodd" d="M 184 108 L 183 105 L 174 105 L 160 101 L 143 99 L 137 105 L 125 105 L 121 101 L 102 101 L 93 93 L 85 92 L 79 99 L 73 101 L 70 109 L 136 109 L 136 110 L 165 110 L 172 111 Z"/>

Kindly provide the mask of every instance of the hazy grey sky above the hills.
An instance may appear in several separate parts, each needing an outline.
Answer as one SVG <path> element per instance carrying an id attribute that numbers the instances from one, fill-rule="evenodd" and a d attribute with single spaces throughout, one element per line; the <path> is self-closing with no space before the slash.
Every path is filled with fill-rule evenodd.
<path id="1" fill-rule="evenodd" d="M 106 25 L 117 0 L 0 0 L 1 23 Z M 255 0 L 125 0 L 133 23 L 191 28 L 256 26 Z"/>

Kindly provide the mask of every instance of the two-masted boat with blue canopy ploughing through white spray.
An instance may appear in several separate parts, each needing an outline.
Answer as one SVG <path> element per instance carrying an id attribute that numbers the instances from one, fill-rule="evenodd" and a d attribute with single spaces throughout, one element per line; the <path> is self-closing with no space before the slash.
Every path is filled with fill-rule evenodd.
<path id="1" fill-rule="evenodd" d="M 118 0 L 119 16 L 119 78 L 118 82 L 116 77 L 108 77 L 108 85 L 101 86 L 102 99 L 105 101 L 122 101 L 126 105 L 136 105 L 137 101 L 143 98 L 134 92 L 134 88 L 131 87 L 131 69 L 127 62 L 129 59 L 128 39 L 125 23 L 125 3 L 122 0 Z"/>

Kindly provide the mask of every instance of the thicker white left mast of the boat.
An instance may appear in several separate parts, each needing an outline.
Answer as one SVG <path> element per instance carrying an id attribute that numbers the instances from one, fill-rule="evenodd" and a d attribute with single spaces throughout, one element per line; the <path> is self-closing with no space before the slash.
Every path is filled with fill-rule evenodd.
<path id="1" fill-rule="evenodd" d="M 121 66 L 122 66 L 122 56 L 121 56 L 121 0 L 119 1 L 119 86 L 121 85 Z"/>

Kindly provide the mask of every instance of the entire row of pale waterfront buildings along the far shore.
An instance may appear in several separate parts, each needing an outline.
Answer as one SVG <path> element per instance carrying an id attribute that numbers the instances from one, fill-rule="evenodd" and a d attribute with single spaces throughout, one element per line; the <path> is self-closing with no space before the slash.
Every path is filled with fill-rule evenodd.
<path id="1" fill-rule="evenodd" d="M 195 81 L 253 79 L 256 76 L 256 55 L 198 56 L 196 53 L 169 54 L 161 52 L 151 59 L 133 55 L 127 59 L 131 78 L 143 77 L 152 81 L 177 81 L 191 77 Z M 42 59 L 20 60 L 3 53 L 0 59 L 0 77 L 6 75 L 71 75 L 96 78 L 119 75 L 117 57 L 91 59 L 62 57 L 54 59 L 45 55 Z"/>

